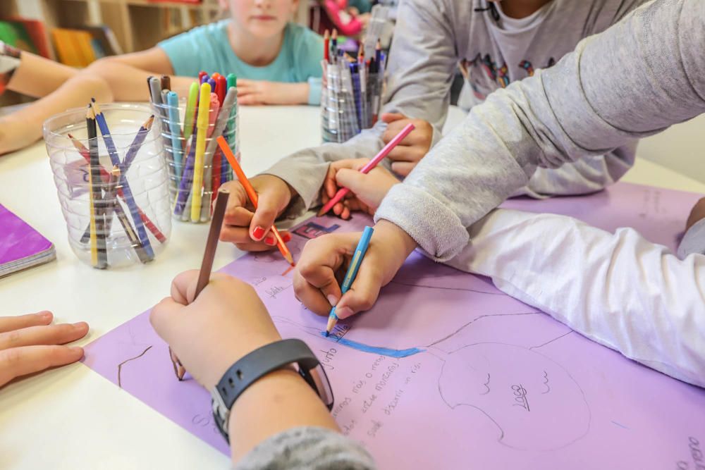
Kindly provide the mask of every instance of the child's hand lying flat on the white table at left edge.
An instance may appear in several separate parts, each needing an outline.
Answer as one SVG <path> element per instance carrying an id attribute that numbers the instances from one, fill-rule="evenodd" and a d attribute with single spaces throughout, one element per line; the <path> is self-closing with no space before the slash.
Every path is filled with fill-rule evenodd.
<path id="1" fill-rule="evenodd" d="M 88 333 L 87 323 L 51 325 L 49 311 L 0 317 L 0 387 L 13 378 L 64 366 L 83 357 L 81 347 L 64 346 Z"/>

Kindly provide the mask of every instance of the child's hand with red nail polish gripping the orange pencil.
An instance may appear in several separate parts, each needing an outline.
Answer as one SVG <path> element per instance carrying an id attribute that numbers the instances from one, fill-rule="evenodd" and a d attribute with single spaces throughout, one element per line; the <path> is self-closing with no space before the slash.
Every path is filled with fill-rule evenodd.
<path id="1" fill-rule="evenodd" d="M 233 242 L 247 252 L 262 252 L 276 247 L 276 238 L 270 233 L 271 226 L 289 205 L 294 191 L 284 180 L 273 175 L 255 176 L 250 183 L 257 192 L 256 211 L 239 181 L 228 181 L 222 186 L 230 191 L 230 197 L 220 239 Z M 284 242 L 291 240 L 286 231 L 280 234 Z"/>

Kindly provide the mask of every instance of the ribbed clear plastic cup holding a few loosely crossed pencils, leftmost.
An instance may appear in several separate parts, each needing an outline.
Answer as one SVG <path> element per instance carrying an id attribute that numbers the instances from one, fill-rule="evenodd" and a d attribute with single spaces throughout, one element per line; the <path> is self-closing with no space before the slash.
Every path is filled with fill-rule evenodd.
<path id="1" fill-rule="evenodd" d="M 86 108 L 44 122 L 68 242 L 95 268 L 148 263 L 171 235 L 167 171 L 152 109 L 106 104 L 101 111 L 111 139 L 104 140 L 98 126 L 97 139 L 88 139 Z"/>

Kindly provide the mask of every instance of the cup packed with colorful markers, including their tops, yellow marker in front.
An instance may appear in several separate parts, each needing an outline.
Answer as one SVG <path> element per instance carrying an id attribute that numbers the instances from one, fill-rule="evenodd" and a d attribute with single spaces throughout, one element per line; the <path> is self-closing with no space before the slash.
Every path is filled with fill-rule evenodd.
<path id="1" fill-rule="evenodd" d="M 235 75 L 201 73 L 188 97 L 179 99 L 168 78 L 149 79 L 158 146 L 166 157 L 171 213 L 180 221 L 211 220 L 219 187 L 233 179 L 233 169 L 216 139 L 223 136 L 240 160 Z"/>

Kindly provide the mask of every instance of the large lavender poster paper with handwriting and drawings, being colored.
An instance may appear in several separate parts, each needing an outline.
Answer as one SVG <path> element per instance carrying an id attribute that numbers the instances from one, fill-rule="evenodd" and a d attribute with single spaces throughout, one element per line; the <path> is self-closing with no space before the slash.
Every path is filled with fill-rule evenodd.
<path id="1" fill-rule="evenodd" d="M 620 183 L 589 197 L 507 205 L 575 214 L 610 230 L 635 226 L 673 247 L 698 198 Z M 288 246 L 297 256 L 307 238 L 368 223 L 365 216 L 312 218 Z M 272 252 L 243 256 L 221 271 L 255 285 L 283 337 L 317 352 L 335 392 L 333 416 L 381 469 L 702 464 L 705 390 L 587 340 L 486 278 L 412 254 L 374 309 L 322 338 L 326 319 L 295 300 L 287 268 Z M 119 370 L 123 389 L 228 452 L 209 393 L 195 381 L 176 381 L 148 316 L 88 345 L 85 364 L 114 383 Z"/>

